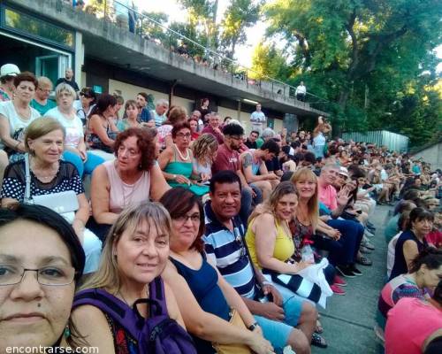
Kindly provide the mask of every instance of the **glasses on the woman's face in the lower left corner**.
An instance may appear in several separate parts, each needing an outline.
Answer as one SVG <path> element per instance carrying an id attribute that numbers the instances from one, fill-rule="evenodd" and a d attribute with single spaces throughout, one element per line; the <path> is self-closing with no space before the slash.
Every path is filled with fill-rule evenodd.
<path id="1" fill-rule="evenodd" d="M 38 283 L 45 286 L 69 285 L 76 273 L 72 266 L 45 266 L 31 269 L 0 264 L 0 286 L 19 284 L 27 272 L 35 272 Z"/>

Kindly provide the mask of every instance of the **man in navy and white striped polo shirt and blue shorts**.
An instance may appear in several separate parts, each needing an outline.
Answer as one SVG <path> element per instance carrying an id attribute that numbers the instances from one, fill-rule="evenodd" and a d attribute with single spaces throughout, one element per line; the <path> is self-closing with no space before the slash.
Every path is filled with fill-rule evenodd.
<path id="1" fill-rule="evenodd" d="M 287 290 L 279 293 L 253 268 L 244 244 L 245 227 L 240 212 L 241 183 L 232 171 L 216 173 L 210 180 L 210 201 L 205 205 L 205 250 L 263 329 L 264 337 L 277 352 L 291 345 L 296 353 L 309 353 L 317 312 L 309 301 Z M 263 290 L 260 296 L 258 286 Z"/>

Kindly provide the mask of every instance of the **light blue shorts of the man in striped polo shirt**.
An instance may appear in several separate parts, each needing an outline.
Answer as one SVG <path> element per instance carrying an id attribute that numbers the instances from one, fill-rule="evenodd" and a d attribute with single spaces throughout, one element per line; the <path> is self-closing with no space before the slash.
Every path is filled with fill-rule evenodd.
<path id="1" fill-rule="evenodd" d="M 290 333 L 293 331 L 293 327 L 298 325 L 302 304 L 306 301 L 309 302 L 309 300 L 293 294 L 292 291 L 278 284 L 272 284 L 282 296 L 282 307 L 284 308 L 286 318 L 283 322 L 266 319 L 262 316 L 255 316 L 255 319 L 263 329 L 264 338 L 271 342 L 277 353 L 282 353 L 282 350 L 287 345 Z"/>

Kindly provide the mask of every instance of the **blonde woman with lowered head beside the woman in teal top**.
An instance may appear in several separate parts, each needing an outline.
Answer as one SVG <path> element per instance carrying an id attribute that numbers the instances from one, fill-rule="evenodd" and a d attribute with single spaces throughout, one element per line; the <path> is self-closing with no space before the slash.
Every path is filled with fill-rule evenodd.
<path id="1" fill-rule="evenodd" d="M 201 173 L 202 181 L 212 176 L 212 164 L 217 157 L 217 138 L 211 134 L 200 135 L 191 145 L 194 154 L 194 171 Z"/>

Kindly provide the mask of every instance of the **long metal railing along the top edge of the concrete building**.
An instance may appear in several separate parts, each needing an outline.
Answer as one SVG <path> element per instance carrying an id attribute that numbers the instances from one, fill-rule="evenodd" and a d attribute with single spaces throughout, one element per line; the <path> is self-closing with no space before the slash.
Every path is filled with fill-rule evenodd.
<path id="1" fill-rule="evenodd" d="M 296 91 L 294 86 L 259 73 L 245 65 L 240 65 L 238 61 L 207 48 L 202 43 L 182 35 L 178 30 L 167 27 L 158 20 L 152 19 L 119 1 L 103 0 L 101 9 L 85 8 L 84 10 L 94 13 L 97 18 L 103 19 L 105 22 L 111 22 L 118 27 L 126 27 L 133 34 L 140 35 L 147 41 L 155 42 L 156 45 L 175 52 L 186 60 L 192 60 L 196 65 L 207 66 L 229 74 L 232 78 L 245 82 L 247 86 L 271 91 L 274 95 L 283 96 L 298 106 L 304 105 L 306 108 L 315 108 L 326 112 L 326 107 L 330 104 L 326 99 L 309 91 L 306 93 L 305 101 L 299 101 L 294 94 Z"/>

